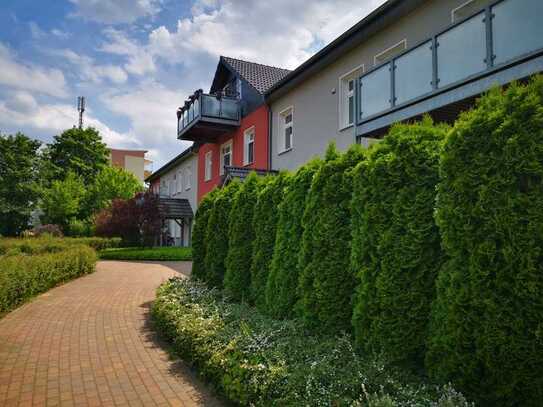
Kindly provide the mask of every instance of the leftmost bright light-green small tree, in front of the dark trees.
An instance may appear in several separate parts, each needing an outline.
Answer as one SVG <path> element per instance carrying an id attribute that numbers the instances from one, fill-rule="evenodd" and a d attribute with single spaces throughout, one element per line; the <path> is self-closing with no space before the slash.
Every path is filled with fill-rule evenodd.
<path id="1" fill-rule="evenodd" d="M 43 192 L 40 205 L 42 222 L 60 225 L 66 232 L 70 221 L 80 217 L 85 193 L 83 181 L 73 172 L 69 172 L 62 181 L 53 181 L 51 187 Z"/>

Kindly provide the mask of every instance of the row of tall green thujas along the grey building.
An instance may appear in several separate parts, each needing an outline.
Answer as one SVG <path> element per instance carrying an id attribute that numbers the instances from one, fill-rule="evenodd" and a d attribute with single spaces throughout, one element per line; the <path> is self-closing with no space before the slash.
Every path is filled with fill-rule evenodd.
<path id="1" fill-rule="evenodd" d="M 268 187 L 253 174 L 228 215 L 232 298 L 315 331 L 352 330 L 361 351 L 483 405 L 540 403 L 541 77 L 482 97 L 452 129 L 424 119 L 368 151 L 331 147 L 285 180 L 280 203 L 259 203 Z M 266 259 L 255 238 L 270 249 L 277 217 L 271 266 L 251 274 Z"/>

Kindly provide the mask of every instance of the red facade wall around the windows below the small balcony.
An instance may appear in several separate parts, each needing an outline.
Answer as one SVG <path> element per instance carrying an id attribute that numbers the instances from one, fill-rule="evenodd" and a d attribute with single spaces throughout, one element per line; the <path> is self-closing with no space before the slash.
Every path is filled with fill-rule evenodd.
<path id="1" fill-rule="evenodd" d="M 220 183 L 220 146 L 228 140 L 232 141 L 232 165 L 243 166 L 243 133 L 250 127 L 255 127 L 255 160 L 247 168 L 268 169 L 268 107 L 262 105 L 251 114 L 241 119 L 239 128 L 222 136 L 217 143 L 204 144 L 198 151 L 198 202 L 205 194 L 213 190 Z M 212 176 L 205 181 L 205 155 L 212 151 Z"/>

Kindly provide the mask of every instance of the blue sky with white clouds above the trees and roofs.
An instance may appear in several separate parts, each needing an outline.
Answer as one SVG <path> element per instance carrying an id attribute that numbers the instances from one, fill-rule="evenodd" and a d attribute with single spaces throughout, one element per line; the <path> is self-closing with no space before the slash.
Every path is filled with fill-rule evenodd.
<path id="1" fill-rule="evenodd" d="M 2 0 L 0 132 L 49 142 L 77 122 L 157 169 L 188 146 L 175 111 L 219 55 L 295 68 L 383 0 Z"/>

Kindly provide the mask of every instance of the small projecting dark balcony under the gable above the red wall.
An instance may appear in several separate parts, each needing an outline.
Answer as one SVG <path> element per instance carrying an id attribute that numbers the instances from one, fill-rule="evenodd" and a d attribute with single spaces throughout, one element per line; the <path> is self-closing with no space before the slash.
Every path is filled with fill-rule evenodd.
<path id="1" fill-rule="evenodd" d="M 230 95 L 208 95 L 198 90 L 177 110 L 177 138 L 213 143 L 240 123 L 240 99 Z"/>

